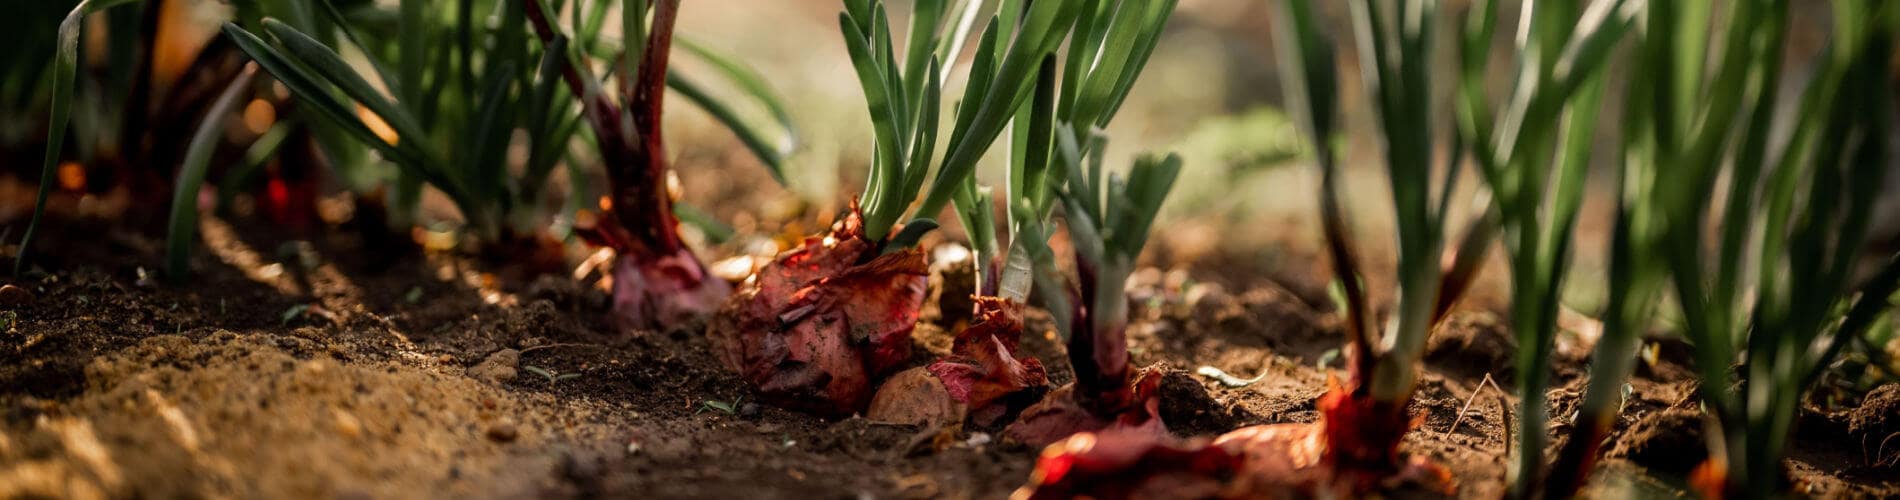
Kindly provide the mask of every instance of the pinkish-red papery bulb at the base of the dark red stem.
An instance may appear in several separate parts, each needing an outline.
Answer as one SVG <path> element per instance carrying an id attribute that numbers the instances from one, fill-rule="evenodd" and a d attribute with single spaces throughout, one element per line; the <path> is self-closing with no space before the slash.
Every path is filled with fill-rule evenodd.
<path id="1" fill-rule="evenodd" d="M 614 323 L 621 331 L 703 325 L 730 293 L 732 285 L 707 274 L 686 247 L 661 257 L 621 253 L 614 262 Z"/>

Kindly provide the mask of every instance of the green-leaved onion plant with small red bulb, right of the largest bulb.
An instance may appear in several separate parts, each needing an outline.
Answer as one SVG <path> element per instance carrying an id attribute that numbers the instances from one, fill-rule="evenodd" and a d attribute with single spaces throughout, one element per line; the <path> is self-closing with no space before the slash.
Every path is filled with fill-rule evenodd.
<path id="1" fill-rule="evenodd" d="M 1001 2 L 999 10 L 1005 15 L 1020 13 L 1024 4 L 1009 0 Z M 1075 171 L 1081 171 L 1081 163 L 1089 162 L 1091 171 L 1100 173 L 1104 139 L 1098 129 L 1108 125 L 1119 103 L 1127 99 L 1172 10 L 1172 0 L 1085 2 L 1070 32 L 1068 49 L 1060 55 L 1062 70 L 1058 72 L 1058 55 L 1043 57 L 1036 89 L 1009 124 L 1009 183 L 1003 194 L 1011 202 L 1007 228 L 1013 240 L 1036 240 L 1036 243 L 999 249 L 990 188 L 977 184 L 975 177 L 963 181 L 965 188 L 954 202 L 963 230 L 977 247 L 978 287 L 971 312 L 977 321 L 956 333 L 950 357 L 922 367 L 916 375 L 901 375 L 933 376 L 939 384 L 885 384 L 872 401 L 872 418 L 914 420 L 893 413 L 914 414 L 920 405 L 923 409 L 950 405 L 965 407 L 975 424 L 992 426 L 1041 395 L 1047 386 L 1041 363 L 1034 357 L 1016 357 L 1022 308 L 1034 283 L 1034 259 L 1026 245 L 1045 245 L 1049 238 L 1041 228 L 1060 203 L 1056 186 L 1066 181 L 1064 165 L 1075 163 Z M 1001 23 L 1013 19 L 1005 17 Z M 1096 139 L 1081 143 L 1077 135 Z M 1016 203 L 1020 207 L 1013 207 Z M 925 390 L 929 395 L 885 394 L 916 390 Z M 893 407 L 897 401 L 904 403 Z"/>

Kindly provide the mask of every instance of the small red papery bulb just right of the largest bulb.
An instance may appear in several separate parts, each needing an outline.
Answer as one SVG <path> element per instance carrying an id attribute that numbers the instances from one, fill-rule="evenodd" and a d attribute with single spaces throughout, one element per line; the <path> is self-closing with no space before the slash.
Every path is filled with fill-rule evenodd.
<path id="1" fill-rule="evenodd" d="M 1022 304 L 999 297 L 975 297 L 975 302 L 977 321 L 956 335 L 950 357 L 925 369 L 942 380 L 952 399 L 969 407 L 977 426 L 994 426 L 1013 403 L 1045 392 L 1049 376 L 1036 357 L 1016 357 Z"/>

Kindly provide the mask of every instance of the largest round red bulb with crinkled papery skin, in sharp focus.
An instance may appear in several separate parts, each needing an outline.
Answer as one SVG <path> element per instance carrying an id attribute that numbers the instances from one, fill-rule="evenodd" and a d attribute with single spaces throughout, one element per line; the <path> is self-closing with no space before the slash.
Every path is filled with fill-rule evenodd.
<path id="1" fill-rule="evenodd" d="M 923 251 L 878 251 L 857 205 L 726 298 L 709 337 L 770 403 L 823 416 L 864 411 L 872 382 L 910 359 L 929 270 Z"/>

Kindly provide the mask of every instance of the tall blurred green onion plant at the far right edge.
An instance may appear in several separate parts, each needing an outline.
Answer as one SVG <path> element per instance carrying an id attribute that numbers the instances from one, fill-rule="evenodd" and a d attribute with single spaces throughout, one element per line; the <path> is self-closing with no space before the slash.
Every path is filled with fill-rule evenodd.
<path id="1" fill-rule="evenodd" d="M 1887 260 L 1856 298 L 1890 158 L 1900 6 L 1832 6 L 1799 97 L 1780 89 L 1792 2 L 1735 2 L 1720 36 L 1704 6 L 1651 2 L 1640 30 L 1647 78 L 1628 82 L 1626 183 L 1649 213 L 1638 222 L 1659 224 L 1657 259 L 1695 346 L 1712 449 L 1697 485 L 1714 496 L 1786 490 L 1780 458 L 1805 390 L 1900 279 Z"/>

